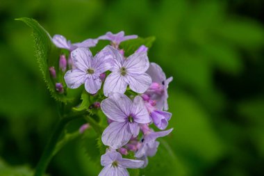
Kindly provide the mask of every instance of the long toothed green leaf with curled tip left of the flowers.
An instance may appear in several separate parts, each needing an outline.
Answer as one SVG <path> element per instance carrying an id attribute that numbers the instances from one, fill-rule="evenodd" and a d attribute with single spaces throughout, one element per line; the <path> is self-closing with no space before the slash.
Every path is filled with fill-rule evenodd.
<path id="1" fill-rule="evenodd" d="M 65 94 L 59 94 L 56 91 L 55 82 L 49 74 L 49 67 L 54 66 L 58 68 L 58 58 L 60 56 L 60 49 L 52 44 L 49 33 L 35 19 L 23 17 L 16 20 L 24 22 L 33 29 L 35 56 L 51 96 L 60 102 L 72 101 L 73 97 L 67 97 Z"/>

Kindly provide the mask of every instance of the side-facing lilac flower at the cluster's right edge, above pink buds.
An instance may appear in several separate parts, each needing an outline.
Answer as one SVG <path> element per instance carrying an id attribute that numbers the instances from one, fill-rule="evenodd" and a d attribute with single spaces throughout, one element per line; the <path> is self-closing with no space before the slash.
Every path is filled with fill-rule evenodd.
<path id="1" fill-rule="evenodd" d="M 167 105 L 167 88 L 169 86 L 169 83 L 172 81 L 172 77 L 169 79 L 166 79 L 165 73 L 161 69 L 159 65 L 156 63 L 151 63 L 149 65 L 149 69 L 147 70 L 147 74 L 150 75 L 153 83 L 158 83 L 160 87 L 158 87 L 156 84 L 156 89 L 151 88 L 147 90 L 147 94 L 151 95 L 151 99 L 156 100 L 156 107 L 159 110 L 168 110 Z M 161 91 L 160 91 L 161 88 Z"/>

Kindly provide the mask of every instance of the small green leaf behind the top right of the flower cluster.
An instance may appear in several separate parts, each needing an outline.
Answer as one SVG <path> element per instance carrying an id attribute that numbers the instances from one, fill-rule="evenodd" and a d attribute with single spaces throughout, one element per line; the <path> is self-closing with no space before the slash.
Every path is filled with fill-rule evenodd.
<path id="1" fill-rule="evenodd" d="M 134 40 L 127 40 L 120 44 L 120 48 L 124 49 L 125 55 L 130 56 L 133 54 L 141 45 L 145 45 L 148 48 L 151 48 L 153 42 L 156 40 L 155 37 L 149 38 L 137 38 Z"/>

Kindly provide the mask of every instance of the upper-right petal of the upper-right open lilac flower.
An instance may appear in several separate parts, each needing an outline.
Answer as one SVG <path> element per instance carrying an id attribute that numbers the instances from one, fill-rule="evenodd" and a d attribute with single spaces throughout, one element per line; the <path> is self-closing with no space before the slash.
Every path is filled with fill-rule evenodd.
<path id="1" fill-rule="evenodd" d="M 129 74 L 142 74 L 149 68 L 149 58 L 146 52 L 135 53 L 126 58 L 124 67 Z"/>

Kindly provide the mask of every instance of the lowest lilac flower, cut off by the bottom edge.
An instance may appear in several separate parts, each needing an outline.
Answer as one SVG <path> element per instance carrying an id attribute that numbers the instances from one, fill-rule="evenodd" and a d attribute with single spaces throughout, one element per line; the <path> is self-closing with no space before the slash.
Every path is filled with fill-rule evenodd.
<path id="1" fill-rule="evenodd" d="M 109 151 L 101 156 L 101 166 L 104 166 L 99 176 L 129 176 L 126 168 L 140 168 L 144 161 L 135 159 L 123 159 L 116 151 Z"/>

